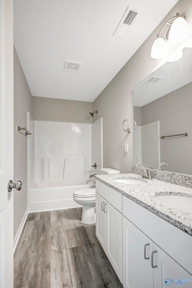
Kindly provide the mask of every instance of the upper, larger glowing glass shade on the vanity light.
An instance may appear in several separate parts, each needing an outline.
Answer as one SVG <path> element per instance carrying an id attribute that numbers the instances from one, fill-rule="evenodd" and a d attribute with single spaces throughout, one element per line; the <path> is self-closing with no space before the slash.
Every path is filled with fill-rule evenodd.
<path id="1" fill-rule="evenodd" d="M 171 25 L 168 40 L 170 43 L 179 43 L 189 36 L 189 26 L 183 17 L 177 17 Z"/>

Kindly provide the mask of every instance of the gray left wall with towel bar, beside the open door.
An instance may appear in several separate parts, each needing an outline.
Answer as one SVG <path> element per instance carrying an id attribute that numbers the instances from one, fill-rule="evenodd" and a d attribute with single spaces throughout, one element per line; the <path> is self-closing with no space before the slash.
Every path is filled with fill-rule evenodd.
<path id="1" fill-rule="evenodd" d="M 27 127 L 27 111 L 31 113 L 32 95 L 14 48 L 14 182 L 22 181 L 22 189 L 14 189 L 15 237 L 27 209 L 27 137 L 17 131 L 17 126 Z"/>

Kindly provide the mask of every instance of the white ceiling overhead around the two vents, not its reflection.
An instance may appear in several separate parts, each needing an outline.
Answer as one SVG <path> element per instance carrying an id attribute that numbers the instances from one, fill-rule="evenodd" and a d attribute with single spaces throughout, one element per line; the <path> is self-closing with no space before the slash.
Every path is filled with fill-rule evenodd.
<path id="1" fill-rule="evenodd" d="M 94 101 L 178 0 L 14 0 L 14 45 L 33 96 Z M 128 6 L 143 10 L 113 37 Z M 82 63 L 78 73 L 65 61 Z"/>

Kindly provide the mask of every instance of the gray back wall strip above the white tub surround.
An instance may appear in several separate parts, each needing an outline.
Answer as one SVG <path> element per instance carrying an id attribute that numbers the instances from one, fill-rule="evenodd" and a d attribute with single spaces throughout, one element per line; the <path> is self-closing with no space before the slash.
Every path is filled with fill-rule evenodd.
<path id="1" fill-rule="evenodd" d="M 92 102 L 32 97 L 34 120 L 92 123 L 89 112 L 93 112 Z"/>

